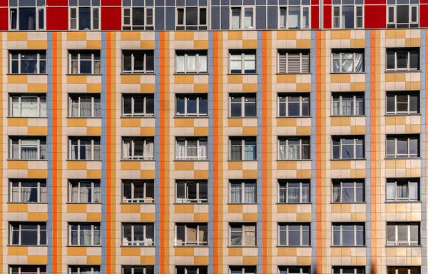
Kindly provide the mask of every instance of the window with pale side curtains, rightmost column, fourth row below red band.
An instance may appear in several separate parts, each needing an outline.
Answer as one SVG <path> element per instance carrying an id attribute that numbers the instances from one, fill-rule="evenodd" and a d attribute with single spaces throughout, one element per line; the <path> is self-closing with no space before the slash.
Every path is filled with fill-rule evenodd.
<path id="1" fill-rule="evenodd" d="M 419 178 L 387 178 L 387 202 L 419 201 Z"/>

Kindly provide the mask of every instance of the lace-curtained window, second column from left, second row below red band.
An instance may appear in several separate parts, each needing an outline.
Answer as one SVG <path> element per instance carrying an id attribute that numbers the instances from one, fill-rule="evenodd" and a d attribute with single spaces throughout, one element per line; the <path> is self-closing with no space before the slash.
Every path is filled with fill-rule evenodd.
<path id="1" fill-rule="evenodd" d="M 101 117 L 101 96 L 74 95 L 68 97 L 68 115 L 70 117 Z"/>

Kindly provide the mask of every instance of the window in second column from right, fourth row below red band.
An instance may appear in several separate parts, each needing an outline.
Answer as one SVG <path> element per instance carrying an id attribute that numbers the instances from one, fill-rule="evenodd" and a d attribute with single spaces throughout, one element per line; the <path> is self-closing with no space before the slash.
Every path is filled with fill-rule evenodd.
<path id="1" fill-rule="evenodd" d="M 363 203 L 364 197 L 364 179 L 332 180 L 332 203 Z"/>

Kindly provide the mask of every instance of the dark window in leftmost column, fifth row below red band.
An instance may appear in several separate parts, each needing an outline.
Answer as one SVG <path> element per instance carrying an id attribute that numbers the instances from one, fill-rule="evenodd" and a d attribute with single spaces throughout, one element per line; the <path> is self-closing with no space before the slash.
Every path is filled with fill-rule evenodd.
<path id="1" fill-rule="evenodd" d="M 46 223 L 9 223 L 9 245 L 46 245 Z"/>

